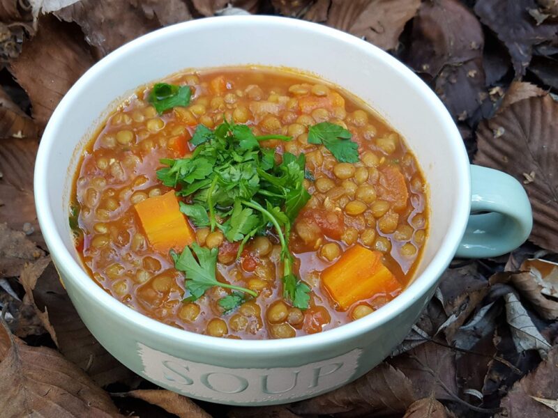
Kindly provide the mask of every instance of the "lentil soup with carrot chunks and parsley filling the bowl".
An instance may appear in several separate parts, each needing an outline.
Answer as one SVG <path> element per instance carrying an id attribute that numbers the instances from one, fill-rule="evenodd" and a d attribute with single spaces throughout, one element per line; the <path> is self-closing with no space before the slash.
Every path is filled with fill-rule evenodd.
<path id="1" fill-rule="evenodd" d="M 174 327 L 241 339 L 358 320 L 411 279 L 425 182 L 340 88 L 269 68 L 184 72 L 84 151 L 70 226 L 91 277 Z"/>

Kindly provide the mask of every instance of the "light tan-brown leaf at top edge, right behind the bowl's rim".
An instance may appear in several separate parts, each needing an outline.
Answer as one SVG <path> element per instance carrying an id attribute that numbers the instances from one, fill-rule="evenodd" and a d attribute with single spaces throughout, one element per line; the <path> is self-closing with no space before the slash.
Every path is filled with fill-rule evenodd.
<path id="1" fill-rule="evenodd" d="M 421 1 L 330 0 L 329 4 L 325 3 L 318 1 L 305 19 L 324 22 L 387 50 L 398 46 L 405 24 L 416 14 Z"/>

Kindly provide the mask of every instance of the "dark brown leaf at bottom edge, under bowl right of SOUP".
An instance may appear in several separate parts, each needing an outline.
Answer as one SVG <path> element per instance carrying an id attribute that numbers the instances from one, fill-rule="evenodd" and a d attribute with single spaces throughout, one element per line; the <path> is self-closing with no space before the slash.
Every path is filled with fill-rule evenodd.
<path id="1" fill-rule="evenodd" d="M 401 414 L 416 401 L 411 380 L 402 371 L 382 363 L 349 385 L 292 404 L 299 415 L 373 417 Z"/>

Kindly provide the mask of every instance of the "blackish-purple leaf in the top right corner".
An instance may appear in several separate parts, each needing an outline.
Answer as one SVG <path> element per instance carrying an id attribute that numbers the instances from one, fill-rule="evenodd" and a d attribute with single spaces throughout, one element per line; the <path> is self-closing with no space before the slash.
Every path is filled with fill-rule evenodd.
<path id="1" fill-rule="evenodd" d="M 557 36 L 558 25 L 536 25 L 527 10 L 535 8 L 534 0 L 478 0 L 474 6 L 481 22 L 504 42 L 511 56 L 515 77 L 525 75 L 533 46 Z"/>

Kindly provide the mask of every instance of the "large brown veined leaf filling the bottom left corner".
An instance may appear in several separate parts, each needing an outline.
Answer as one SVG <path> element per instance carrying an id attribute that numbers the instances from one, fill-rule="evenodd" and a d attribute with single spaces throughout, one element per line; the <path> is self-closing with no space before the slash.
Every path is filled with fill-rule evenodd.
<path id="1" fill-rule="evenodd" d="M 56 350 L 27 346 L 17 336 L 10 339 L 0 363 L 3 417 L 119 416 L 110 396 Z"/>

